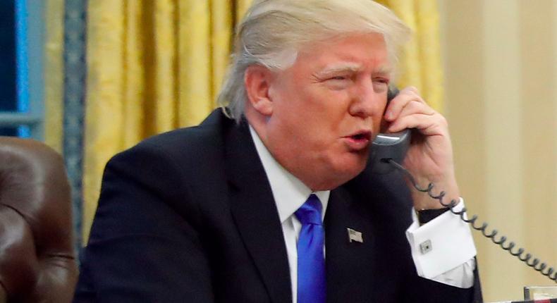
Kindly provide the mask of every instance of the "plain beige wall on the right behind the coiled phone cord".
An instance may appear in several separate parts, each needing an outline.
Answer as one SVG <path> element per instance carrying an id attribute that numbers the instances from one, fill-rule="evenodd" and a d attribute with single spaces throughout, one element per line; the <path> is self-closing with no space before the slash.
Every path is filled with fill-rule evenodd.
<path id="1" fill-rule="evenodd" d="M 440 0 L 440 10 L 446 116 L 467 206 L 557 266 L 557 0 Z M 475 235 L 486 302 L 555 285 Z"/>

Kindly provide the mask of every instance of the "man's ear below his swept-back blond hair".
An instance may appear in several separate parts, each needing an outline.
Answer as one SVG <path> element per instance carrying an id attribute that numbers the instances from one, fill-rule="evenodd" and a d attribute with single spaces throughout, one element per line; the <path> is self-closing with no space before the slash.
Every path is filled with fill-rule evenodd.
<path id="1" fill-rule="evenodd" d="M 271 70 L 259 65 L 249 66 L 244 74 L 247 101 L 264 116 L 271 116 L 273 113 L 273 102 L 269 97 L 269 87 L 273 78 Z"/>

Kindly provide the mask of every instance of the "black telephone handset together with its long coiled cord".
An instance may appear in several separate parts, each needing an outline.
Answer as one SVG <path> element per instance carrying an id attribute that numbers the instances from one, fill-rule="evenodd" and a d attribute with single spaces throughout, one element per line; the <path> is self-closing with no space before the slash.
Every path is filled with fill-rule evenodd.
<path id="1" fill-rule="evenodd" d="M 387 94 L 387 102 L 390 102 L 394 97 L 396 97 L 397 94 L 398 89 L 396 89 L 396 87 L 389 88 Z M 449 211 L 451 211 L 451 213 L 460 216 L 463 221 L 470 224 L 473 229 L 481 232 L 484 237 L 491 239 L 492 242 L 494 242 L 496 245 L 499 245 L 502 249 L 505 249 L 513 256 L 516 256 L 518 259 L 520 259 L 520 261 L 527 264 L 527 266 L 534 268 L 535 271 L 538 271 L 542 275 L 553 280 L 553 282 L 557 283 L 557 271 L 555 270 L 555 268 L 548 268 L 547 264 L 541 262 L 537 258 L 534 258 L 532 254 L 527 253 L 524 248 L 515 248 L 515 242 L 509 242 L 507 237 L 505 237 L 504 235 L 501 235 L 497 238 L 497 230 L 494 229 L 491 230 L 491 233 L 488 232 L 488 224 L 486 222 L 478 224 L 478 216 L 476 215 L 473 215 L 472 218 L 468 218 L 469 215 L 467 216 L 466 214 L 466 208 L 463 208 L 460 211 L 455 211 L 453 208 L 456 206 L 456 201 L 453 200 L 451 202 L 443 202 L 443 196 L 445 195 L 445 193 L 440 192 L 439 194 L 434 194 L 433 189 L 435 185 L 433 183 L 429 183 L 429 185 L 425 188 L 417 185 L 414 177 L 410 174 L 410 172 L 408 172 L 402 165 L 400 165 L 400 163 L 403 163 L 406 152 L 408 152 L 408 148 L 410 147 L 411 132 L 412 130 L 407 129 L 403 130 L 402 132 L 394 132 L 391 134 L 377 134 L 377 137 L 372 143 L 371 148 L 370 161 L 372 165 L 372 173 L 385 174 L 393 171 L 393 169 L 400 171 L 406 176 L 406 178 L 408 178 L 408 180 L 410 180 L 410 183 L 412 183 L 416 190 L 429 194 L 429 197 L 433 199 L 438 199 L 439 203 L 447 207 Z"/>

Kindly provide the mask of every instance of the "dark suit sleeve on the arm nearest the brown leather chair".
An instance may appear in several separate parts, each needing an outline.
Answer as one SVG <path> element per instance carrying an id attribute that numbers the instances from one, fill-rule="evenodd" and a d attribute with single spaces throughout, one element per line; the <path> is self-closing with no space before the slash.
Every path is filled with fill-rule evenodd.
<path id="1" fill-rule="evenodd" d="M 140 144 L 106 166 L 74 302 L 212 302 L 184 168 Z"/>

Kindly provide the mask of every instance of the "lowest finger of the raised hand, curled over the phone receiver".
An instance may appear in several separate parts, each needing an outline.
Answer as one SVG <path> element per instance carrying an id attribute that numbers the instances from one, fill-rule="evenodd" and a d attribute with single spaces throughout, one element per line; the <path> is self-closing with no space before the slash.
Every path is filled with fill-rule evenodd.
<path id="1" fill-rule="evenodd" d="M 389 126 L 388 132 L 400 132 L 406 128 L 416 128 L 424 135 L 443 135 L 448 132 L 447 121 L 439 113 L 434 115 L 415 113 L 400 117 Z"/>

